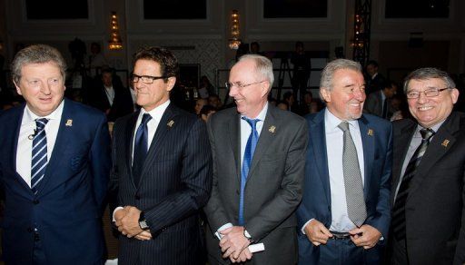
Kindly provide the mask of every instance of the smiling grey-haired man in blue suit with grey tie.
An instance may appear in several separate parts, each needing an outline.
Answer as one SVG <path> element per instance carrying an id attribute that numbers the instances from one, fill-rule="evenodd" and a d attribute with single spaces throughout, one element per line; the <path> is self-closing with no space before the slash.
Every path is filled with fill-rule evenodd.
<path id="1" fill-rule="evenodd" d="M 391 123 L 361 114 L 361 65 L 327 64 L 320 93 L 326 109 L 307 116 L 302 204 L 297 211 L 300 264 L 379 264 L 390 223 Z"/>

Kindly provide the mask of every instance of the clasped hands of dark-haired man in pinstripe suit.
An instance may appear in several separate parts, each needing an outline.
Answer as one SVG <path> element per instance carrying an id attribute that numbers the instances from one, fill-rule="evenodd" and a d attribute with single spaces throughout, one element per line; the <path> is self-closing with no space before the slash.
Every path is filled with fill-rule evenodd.
<path id="1" fill-rule="evenodd" d="M 143 231 L 139 225 L 141 211 L 134 206 L 125 206 L 123 209 L 114 211 L 114 224 L 124 236 L 137 240 L 151 240 L 150 231 Z"/>

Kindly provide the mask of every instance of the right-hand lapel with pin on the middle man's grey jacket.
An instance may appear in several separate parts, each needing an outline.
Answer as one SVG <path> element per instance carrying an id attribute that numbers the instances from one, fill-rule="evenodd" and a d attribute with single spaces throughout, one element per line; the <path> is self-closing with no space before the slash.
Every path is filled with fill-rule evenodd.
<path id="1" fill-rule="evenodd" d="M 266 153 L 268 147 L 271 145 L 273 138 L 275 137 L 275 134 L 277 133 L 277 131 L 280 130 L 281 124 L 278 124 L 276 122 L 277 121 L 274 117 L 274 109 L 271 105 L 269 105 L 265 121 L 263 123 L 262 132 L 260 132 L 260 137 L 258 139 L 255 152 L 253 152 L 252 166 L 251 170 L 249 171 L 249 175 L 247 176 L 247 179 L 249 178 L 249 176 L 253 176 L 253 171 L 257 168 L 258 163 L 262 160 L 263 155 Z"/>

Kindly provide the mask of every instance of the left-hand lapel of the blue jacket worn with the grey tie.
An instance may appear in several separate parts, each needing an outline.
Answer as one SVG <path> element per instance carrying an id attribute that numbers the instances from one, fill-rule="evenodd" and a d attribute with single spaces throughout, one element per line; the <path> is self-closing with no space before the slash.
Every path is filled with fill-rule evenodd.
<path id="1" fill-rule="evenodd" d="M 326 132 L 324 131 L 324 113 L 323 109 L 316 114 L 310 123 L 310 141 L 313 146 L 308 152 L 313 152 L 320 179 L 324 187 L 324 194 L 327 201 L 331 201 L 330 173 L 328 169 L 328 154 L 326 152 Z M 312 151 L 313 150 L 313 151 Z M 309 154 L 307 154 L 309 155 Z"/>

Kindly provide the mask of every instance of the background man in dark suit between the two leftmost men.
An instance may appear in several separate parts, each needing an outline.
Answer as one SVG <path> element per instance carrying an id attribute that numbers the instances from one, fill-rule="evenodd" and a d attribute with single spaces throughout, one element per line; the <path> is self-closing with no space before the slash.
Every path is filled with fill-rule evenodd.
<path id="1" fill-rule="evenodd" d="M 89 91 L 89 104 L 106 114 L 109 122 L 133 113 L 134 103 L 130 88 L 126 88 L 119 78 L 114 77 L 111 69 L 102 70 L 102 76 L 96 77 L 94 87 Z"/>

